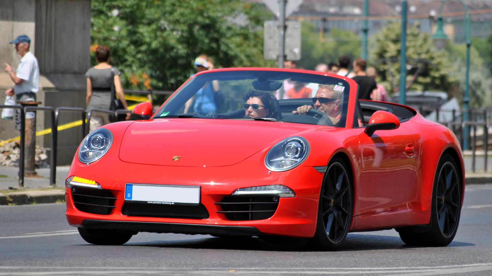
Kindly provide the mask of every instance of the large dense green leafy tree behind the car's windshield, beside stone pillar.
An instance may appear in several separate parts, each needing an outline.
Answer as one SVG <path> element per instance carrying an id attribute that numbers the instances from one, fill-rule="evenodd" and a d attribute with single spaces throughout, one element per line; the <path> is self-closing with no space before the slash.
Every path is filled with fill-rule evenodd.
<path id="1" fill-rule="evenodd" d="M 216 68 L 275 66 L 263 59 L 258 28 L 270 17 L 240 0 L 92 0 L 92 45 L 111 48 L 124 87 L 175 90 L 201 54 Z"/>

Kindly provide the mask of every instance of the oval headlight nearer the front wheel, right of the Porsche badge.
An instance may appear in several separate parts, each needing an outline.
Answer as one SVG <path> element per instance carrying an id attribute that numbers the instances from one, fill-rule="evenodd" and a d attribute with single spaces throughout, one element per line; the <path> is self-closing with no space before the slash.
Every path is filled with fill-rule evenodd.
<path id="1" fill-rule="evenodd" d="M 309 154 L 309 143 L 303 137 L 284 139 L 273 146 L 265 157 L 265 166 L 274 172 L 283 172 L 299 166 Z"/>

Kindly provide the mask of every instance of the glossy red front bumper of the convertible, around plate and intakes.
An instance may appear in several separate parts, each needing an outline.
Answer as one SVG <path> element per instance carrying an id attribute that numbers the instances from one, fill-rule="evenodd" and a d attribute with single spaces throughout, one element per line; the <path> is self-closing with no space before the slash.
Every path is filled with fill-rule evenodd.
<path id="1" fill-rule="evenodd" d="M 258 153 L 261 154 L 261 153 Z M 285 172 L 270 172 L 263 158 L 250 158 L 224 167 L 179 167 L 143 165 L 123 162 L 116 154 L 82 164 L 75 156 L 68 173 L 96 181 L 116 197 L 115 208 L 109 215 L 81 212 L 66 188 L 66 217 L 75 227 L 124 229 L 139 232 L 216 234 L 216 235 L 282 235 L 309 238 L 314 235 L 320 184 L 323 174 L 313 167 L 300 165 Z M 115 168 L 117 173 L 115 172 Z M 114 172 L 114 173 L 113 173 Z M 123 215 L 126 183 L 200 185 L 200 203 L 207 209 L 208 218 L 169 218 Z M 230 220 L 217 213 L 224 196 L 243 187 L 282 184 L 293 189 L 296 197 L 282 197 L 277 211 L 268 219 Z"/>

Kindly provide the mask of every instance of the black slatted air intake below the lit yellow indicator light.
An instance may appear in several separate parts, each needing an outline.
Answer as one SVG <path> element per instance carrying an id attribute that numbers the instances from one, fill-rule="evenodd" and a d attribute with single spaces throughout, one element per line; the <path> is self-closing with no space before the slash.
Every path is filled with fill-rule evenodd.
<path id="1" fill-rule="evenodd" d="M 109 215 L 115 208 L 115 196 L 108 190 L 72 187 L 75 208 L 82 212 Z"/>

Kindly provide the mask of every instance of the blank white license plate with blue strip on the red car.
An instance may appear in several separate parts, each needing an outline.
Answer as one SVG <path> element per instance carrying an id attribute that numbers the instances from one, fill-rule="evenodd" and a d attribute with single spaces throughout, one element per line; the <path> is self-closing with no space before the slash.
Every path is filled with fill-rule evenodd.
<path id="1" fill-rule="evenodd" d="M 169 205 L 200 204 L 200 186 L 126 184 L 124 200 Z"/>

